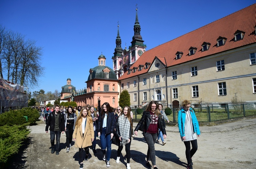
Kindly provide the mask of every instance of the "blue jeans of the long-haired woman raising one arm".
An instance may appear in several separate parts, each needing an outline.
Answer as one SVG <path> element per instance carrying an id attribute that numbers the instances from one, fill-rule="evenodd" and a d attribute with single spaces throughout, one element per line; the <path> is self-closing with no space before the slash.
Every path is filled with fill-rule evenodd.
<path id="1" fill-rule="evenodd" d="M 106 128 L 102 128 L 102 133 L 100 134 L 100 144 L 101 144 L 101 151 L 103 154 L 106 154 L 106 160 L 110 161 L 111 156 L 111 135 L 106 134 Z M 106 153 L 107 149 L 107 153 Z"/>

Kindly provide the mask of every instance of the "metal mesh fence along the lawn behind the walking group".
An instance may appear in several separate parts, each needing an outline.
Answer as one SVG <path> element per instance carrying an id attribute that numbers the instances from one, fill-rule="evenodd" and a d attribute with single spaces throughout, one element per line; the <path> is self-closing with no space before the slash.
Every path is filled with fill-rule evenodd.
<path id="1" fill-rule="evenodd" d="M 199 122 L 213 122 L 256 115 L 256 104 L 227 104 L 225 106 L 205 106 L 194 107 L 192 109 L 194 109 Z M 163 110 L 167 112 L 166 109 Z M 167 114 L 167 117 L 170 122 L 177 123 L 180 108 L 173 108 L 171 110 L 171 114 Z M 140 111 L 137 111 L 137 109 L 131 109 L 131 111 L 133 112 L 133 119 L 140 120 L 142 116 L 142 113 L 140 112 L 145 111 L 145 109 Z"/>

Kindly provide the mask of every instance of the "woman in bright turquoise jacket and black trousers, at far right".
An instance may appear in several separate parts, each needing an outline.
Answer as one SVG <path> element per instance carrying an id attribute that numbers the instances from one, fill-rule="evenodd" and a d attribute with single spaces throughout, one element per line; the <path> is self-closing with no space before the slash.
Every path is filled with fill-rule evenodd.
<path id="1" fill-rule="evenodd" d="M 178 127 L 181 140 L 186 146 L 187 168 L 192 169 L 192 156 L 197 151 L 197 136 L 200 136 L 199 124 L 195 112 L 190 108 L 190 101 L 183 100 L 181 110 L 178 113 Z M 192 149 L 190 150 L 190 143 Z"/>

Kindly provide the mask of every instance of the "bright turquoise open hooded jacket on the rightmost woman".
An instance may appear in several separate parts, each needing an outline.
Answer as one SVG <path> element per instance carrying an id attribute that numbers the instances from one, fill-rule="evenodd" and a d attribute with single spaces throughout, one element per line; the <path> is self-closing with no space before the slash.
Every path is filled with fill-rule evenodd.
<path id="1" fill-rule="evenodd" d="M 200 130 L 199 130 L 199 124 L 195 115 L 195 112 L 192 108 L 189 109 L 191 119 L 192 119 L 192 124 L 193 124 L 193 131 L 194 133 L 196 132 L 197 135 L 200 135 Z M 186 119 L 186 110 L 181 107 L 180 111 L 178 112 L 178 127 L 179 127 L 179 132 L 181 137 L 185 136 L 185 119 Z"/>

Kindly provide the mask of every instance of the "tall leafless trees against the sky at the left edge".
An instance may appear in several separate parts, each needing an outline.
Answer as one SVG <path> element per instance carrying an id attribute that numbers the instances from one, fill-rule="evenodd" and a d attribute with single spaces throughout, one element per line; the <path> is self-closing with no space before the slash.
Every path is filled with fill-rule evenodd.
<path id="1" fill-rule="evenodd" d="M 7 80 L 22 86 L 38 86 L 44 67 L 41 66 L 42 48 L 34 40 L 25 40 L 25 36 L 6 31 L 0 25 L 0 56 L 1 77 L 6 75 Z"/>

